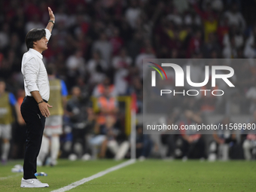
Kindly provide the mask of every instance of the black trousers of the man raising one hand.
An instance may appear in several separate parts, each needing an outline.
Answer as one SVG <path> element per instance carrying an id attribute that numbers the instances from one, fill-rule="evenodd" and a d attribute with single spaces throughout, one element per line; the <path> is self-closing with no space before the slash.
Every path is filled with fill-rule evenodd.
<path id="1" fill-rule="evenodd" d="M 26 96 L 24 98 L 20 106 L 20 111 L 26 122 L 26 149 L 23 164 L 23 178 L 36 178 L 36 158 L 41 148 L 45 117 L 41 114 L 38 103 L 32 96 Z"/>

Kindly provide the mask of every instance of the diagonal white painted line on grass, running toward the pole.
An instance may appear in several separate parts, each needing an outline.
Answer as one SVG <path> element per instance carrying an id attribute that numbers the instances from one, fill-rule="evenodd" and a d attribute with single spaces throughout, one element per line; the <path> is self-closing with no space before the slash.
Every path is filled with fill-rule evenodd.
<path id="1" fill-rule="evenodd" d="M 64 192 L 64 191 L 67 191 L 67 190 L 71 190 L 72 188 L 78 187 L 79 185 L 84 184 L 84 183 L 86 183 L 88 181 L 91 181 L 94 178 L 99 178 L 99 177 L 101 177 L 101 176 L 103 176 L 105 174 L 108 174 L 108 172 L 114 172 L 117 169 L 121 169 L 121 168 L 123 168 L 125 166 L 129 166 L 130 164 L 133 164 L 135 162 L 136 162 L 136 160 L 127 160 L 126 162 L 120 163 L 117 166 L 113 166 L 113 167 L 111 167 L 109 169 L 105 169 L 105 171 L 98 172 L 95 175 L 91 175 L 89 178 L 82 178 L 80 181 L 75 181 L 72 184 L 69 184 L 69 185 L 67 185 L 65 187 L 59 188 L 57 190 L 52 190 L 50 192 Z"/>

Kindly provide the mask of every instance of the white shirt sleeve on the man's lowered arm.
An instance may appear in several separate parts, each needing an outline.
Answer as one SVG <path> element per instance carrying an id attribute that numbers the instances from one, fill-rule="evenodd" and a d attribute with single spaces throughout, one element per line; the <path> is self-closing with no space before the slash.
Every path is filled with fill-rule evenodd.
<path id="1" fill-rule="evenodd" d="M 34 58 L 30 59 L 26 62 L 26 65 L 23 69 L 24 80 L 26 83 L 26 87 L 28 88 L 29 92 L 38 90 L 37 86 L 37 75 L 39 72 L 40 66 L 39 63 L 36 62 Z"/>

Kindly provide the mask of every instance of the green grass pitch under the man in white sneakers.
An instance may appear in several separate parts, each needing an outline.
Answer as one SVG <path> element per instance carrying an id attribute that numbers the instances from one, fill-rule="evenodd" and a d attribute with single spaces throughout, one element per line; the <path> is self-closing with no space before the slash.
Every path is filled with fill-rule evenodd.
<path id="1" fill-rule="evenodd" d="M 55 167 L 39 167 L 38 176 L 48 188 L 20 188 L 22 173 L 11 168 L 22 161 L 0 166 L 0 191 L 51 191 L 90 177 L 121 162 L 114 160 L 59 160 Z M 190 190 L 189 190 L 190 189 Z M 256 161 L 200 162 L 199 160 L 145 160 L 103 175 L 69 190 L 75 191 L 256 191 Z"/>

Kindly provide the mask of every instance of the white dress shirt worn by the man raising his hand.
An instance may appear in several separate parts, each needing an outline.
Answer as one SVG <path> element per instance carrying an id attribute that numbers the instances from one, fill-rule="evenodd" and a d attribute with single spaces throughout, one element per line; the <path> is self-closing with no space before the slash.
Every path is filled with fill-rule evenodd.
<path id="1" fill-rule="evenodd" d="M 45 32 L 46 38 L 49 41 L 50 31 L 45 29 Z M 30 48 L 23 54 L 21 72 L 23 73 L 26 96 L 32 96 L 31 92 L 38 90 L 41 98 L 48 101 L 50 97 L 50 85 L 42 59 L 43 56 L 41 53 Z"/>

